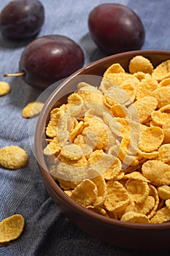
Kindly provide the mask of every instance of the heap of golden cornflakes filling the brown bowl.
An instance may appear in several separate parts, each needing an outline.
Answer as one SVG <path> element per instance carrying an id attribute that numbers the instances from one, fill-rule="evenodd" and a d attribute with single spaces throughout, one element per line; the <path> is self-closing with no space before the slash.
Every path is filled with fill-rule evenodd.
<path id="1" fill-rule="evenodd" d="M 170 60 L 112 64 L 79 83 L 46 128 L 50 174 L 81 206 L 123 222 L 170 221 Z"/>

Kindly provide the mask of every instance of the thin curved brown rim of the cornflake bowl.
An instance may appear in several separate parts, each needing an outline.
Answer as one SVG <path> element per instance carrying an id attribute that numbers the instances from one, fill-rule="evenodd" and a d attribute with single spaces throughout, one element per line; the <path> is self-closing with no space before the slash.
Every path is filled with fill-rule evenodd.
<path id="1" fill-rule="evenodd" d="M 104 222 L 107 225 L 115 225 L 117 227 L 124 227 L 128 229 L 140 229 L 140 230 L 164 230 L 164 229 L 170 229 L 170 222 L 164 222 L 164 223 L 159 223 L 159 224 L 142 224 L 142 223 L 132 223 L 132 222 L 123 222 L 117 219 L 112 219 L 109 217 L 104 217 L 101 214 L 96 214 L 93 211 L 90 211 L 83 206 L 80 206 L 77 202 L 72 200 L 66 193 L 63 192 L 61 187 L 56 183 L 56 181 L 53 179 L 52 176 L 50 176 L 50 173 L 47 170 L 47 165 L 45 162 L 44 154 L 43 154 L 43 149 L 42 149 L 42 135 L 43 131 L 45 129 L 45 122 L 47 120 L 47 115 L 49 112 L 48 106 L 50 105 L 50 102 L 53 101 L 53 97 L 55 97 L 55 94 L 60 91 L 63 86 L 65 86 L 67 83 L 69 83 L 70 80 L 74 79 L 75 76 L 81 75 L 81 72 L 83 70 L 89 69 L 90 67 L 93 67 L 94 65 L 96 66 L 97 64 L 103 62 L 107 62 L 111 59 L 116 59 L 116 58 L 126 58 L 129 55 L 134 56 L 134 55 L 169 55 L 170 59 L 170 50 L 134 50 L 131 52 L 125 52 L 125 53 L 117 53 L 112 56 L 107 56 L 102 59 L 98 59 L 97 61 L 93 61 L 90 64 L 86 65 L 85 67 L 82 67 L 81 69 L 77 70 L 74 72 L 72 75 L 69 76 L 69 78 L 66 78 L 61 82 L 61 84 L 53 91 L 52 94 L 50 94 L 50 97 L 45 102 L 44 107 L 42 108 L 41 113 L 39 114 L 38 121 L 36 123 L 36 130 L 35 130 L 35 135 L 34 135 L 34 146 L 35 146 L 35 157 L 36 157 L 36 162 L 39 165 L 39 169 L 42 173 L 42 176 L 45 178 L 45 181 L 47 181 L 47 184 L 50 185 L 50 187 L 53 189 L 55 194 L 58 194 L 59 197 L 62 198 L 62 200 L 65 201 L 65 203 L 69 204 L 69 206 L 72 206 L 74 210 L 79 212 L 80 214 L 85 214 L 89 218 L 96 219 L 97 221 Z M 45 114 L 46 113 L 46 114 Z M 42 129 L 43 128 L 43 129 Z M 42 161 L 43 160 L 43 161 Z"/>

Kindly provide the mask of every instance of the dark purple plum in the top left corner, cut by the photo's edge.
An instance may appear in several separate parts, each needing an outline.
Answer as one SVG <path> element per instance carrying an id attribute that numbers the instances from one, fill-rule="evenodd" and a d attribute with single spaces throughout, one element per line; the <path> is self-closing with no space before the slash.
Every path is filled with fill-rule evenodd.
<path id="1" fill-rule="evenodd" d="M 0 31 L 8 39 L 26 39 L 39 33 L 45 8 L 38 0 L 10 1 L 0 13 Z"/>

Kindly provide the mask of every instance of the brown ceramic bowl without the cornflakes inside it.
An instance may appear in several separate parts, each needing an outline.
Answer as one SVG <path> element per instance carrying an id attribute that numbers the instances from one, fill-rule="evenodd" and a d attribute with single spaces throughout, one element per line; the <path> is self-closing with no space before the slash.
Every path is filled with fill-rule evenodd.
<path id="1" fill-rule="evenodd" d="M 45 126 L 49 118 L 50 110 L 54 108 L 56 102 L 64 102 L 64 99 L 61 100 L 63 95 L 69 94 L 76 89 L 77 81 L 82 81 L 80 75 L 102 76 L 107 67 L 117 62 L 127 70 L 129 60 L 136 55 L 147 57 L 152 61 L 154 66 L 160 64 L 161 61 L 170 59 L 170 51 L 163 50 L 139 50 L 119 53 L 88 64 L 88 66 L 83 67 L 66 80 L 63 80 L 63 83 L 61 83 L 47 99 L 45 107 L 40 113 L 35 132 L 36 161 L 41 170 L 47 192 L 53 197 L 53 200 L 61 208 L 63 214 L 86 233 L 110 244 L 128 249 L 170 249 L 170 222 L 158 225 L 121 222 L 119 220 L 103 217 L 83 208 L 69 198 L 50 176 L 43 154 Z"/>

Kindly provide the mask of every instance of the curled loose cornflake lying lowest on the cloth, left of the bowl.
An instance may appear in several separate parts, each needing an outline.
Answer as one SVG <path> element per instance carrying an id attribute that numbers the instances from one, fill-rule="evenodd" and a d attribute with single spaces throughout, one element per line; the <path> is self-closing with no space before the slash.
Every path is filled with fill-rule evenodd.
<path id="1" fill-rule="evenodd" d="M 25 220 L 22 215 L 15 214 L 0 222 L 0 243 L 7 243 L 9 241 L 19 238 L 23 233 Z"/>

